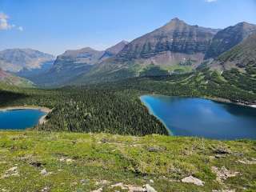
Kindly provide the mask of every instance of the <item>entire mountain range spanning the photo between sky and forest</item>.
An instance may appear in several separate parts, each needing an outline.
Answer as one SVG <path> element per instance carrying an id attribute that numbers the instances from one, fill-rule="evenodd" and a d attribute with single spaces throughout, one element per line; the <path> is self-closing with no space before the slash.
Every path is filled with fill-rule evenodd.
<path id="1" fill-rule="evenodd" d="M 253 70 L 251 63 L 255 63 L 256 58 L 255 47 L 251 43 L 254 42 L 254 34 L 256 25 L 246 22 L 220 30 L 191 26 L 174 18 L 132 42 L 122 41 L 106 50 L 90 47 L 67 50 L 57 57 L 53 65 L 49 64 L 53 56 L 41 52 L 2 51 L 0 66 L 3 70 L 29 78 L 39 86 L 186 73 L 196 70 L 202 63 L 207 63 L 212 70 L 238 68 L 247 73 L 246 66 Z M 34 57 L 30 56 L 32 53 Z M 39 64 L 43 63 L 38 62 L 42 60 L 48 62 L 46 68 Z M 38 72 L 34 69 L 44 70 Z"/>

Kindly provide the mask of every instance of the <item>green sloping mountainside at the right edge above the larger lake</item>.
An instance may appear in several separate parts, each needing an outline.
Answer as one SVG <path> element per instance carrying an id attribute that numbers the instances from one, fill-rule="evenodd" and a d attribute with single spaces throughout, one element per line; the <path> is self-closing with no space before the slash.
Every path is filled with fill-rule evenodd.
<path id="1" fill-rule="evenodd" d="M 222 76 L 234 86 L 256 93 L 256 34 L 220 55 L 210 68 L 222 71 Z"/>

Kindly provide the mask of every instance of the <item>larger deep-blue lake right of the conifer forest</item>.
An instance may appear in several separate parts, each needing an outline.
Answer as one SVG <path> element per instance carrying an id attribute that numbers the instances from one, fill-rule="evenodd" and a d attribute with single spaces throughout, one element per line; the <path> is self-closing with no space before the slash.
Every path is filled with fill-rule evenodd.
<path id="1" fill-rule="evenodd" d="M 141 97 L 170 134 L 216 139 L 256 139 L 256 109 L 203 98 Z"/>

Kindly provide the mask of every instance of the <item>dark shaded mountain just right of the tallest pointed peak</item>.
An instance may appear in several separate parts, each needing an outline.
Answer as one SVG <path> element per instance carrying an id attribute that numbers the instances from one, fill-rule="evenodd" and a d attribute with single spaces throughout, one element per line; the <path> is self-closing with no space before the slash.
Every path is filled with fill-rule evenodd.
<path id="1" fill-rule="evenodd" d="M 235 26 L 229 26 L 224 30 L 218 31 L 210 44 L 209 50 L 206 52 L 205 58 L 217 58 L 220 54 L 230 50 L 254 33 L 256 33 L 256 25 L 247 22 L 240 22 Z"/>

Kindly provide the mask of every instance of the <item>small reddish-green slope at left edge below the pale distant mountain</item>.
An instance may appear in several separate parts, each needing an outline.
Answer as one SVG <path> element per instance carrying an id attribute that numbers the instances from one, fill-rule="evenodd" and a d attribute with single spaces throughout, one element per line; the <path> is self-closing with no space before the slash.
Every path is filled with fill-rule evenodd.
<path id="1" fill-rule="evenodd" d="M 10 74 L 0 68 L 0 83 L 4 83 L 11 86 L 33 86 L 33 83 L 26 80 L 25 78 L 20 78 Z"/>

